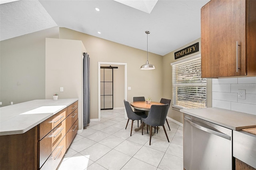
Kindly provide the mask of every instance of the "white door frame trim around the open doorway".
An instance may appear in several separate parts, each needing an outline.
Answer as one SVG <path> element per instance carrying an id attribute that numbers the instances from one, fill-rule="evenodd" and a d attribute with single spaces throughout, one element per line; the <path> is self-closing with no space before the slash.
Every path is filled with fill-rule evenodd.
<path id="1" fill-rule="evenodd" d="M 100 96 L 100 67 L 102 65 L 115 65 L 124 66 L 124 99 L 127 100 L 127 63 L 116 62 L 98 62 L 98 121 L 100 121 L 100 108 L 101 108 L 101 96 Z M 127 119 L 126 111 L 124 111 L 124 118 Z"/>

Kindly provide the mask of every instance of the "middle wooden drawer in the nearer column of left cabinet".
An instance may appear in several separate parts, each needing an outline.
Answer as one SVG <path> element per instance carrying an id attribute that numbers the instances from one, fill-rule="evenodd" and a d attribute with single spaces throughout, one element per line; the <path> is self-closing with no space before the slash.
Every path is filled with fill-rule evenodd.
<path id="1" fill-rule="evenodd" d="M 48 156 L 60 143 L 65 136 L 65 124 L 66 121 L 62 121 L 57 127 L 55 127 L 50 133 L 48 133 L 41 141 L 38 142 L 38 154 L 39 154 L 39 167 L 41 167 Z M 65 139 L 65 138 L 64 138 Z M 65 147 L 66 148 L 66 147 Z"/>

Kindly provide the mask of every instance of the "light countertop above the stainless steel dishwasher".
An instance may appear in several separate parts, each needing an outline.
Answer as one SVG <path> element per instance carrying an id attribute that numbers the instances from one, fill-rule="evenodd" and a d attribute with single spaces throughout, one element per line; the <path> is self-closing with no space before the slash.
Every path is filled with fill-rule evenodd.
<path id="1" fill-rule="evenodd" d="M 232 129 L 256 127 L 256 115 L 230 111 L 216 107 L 204 109 L 181 109 L 183 113 Z"/>

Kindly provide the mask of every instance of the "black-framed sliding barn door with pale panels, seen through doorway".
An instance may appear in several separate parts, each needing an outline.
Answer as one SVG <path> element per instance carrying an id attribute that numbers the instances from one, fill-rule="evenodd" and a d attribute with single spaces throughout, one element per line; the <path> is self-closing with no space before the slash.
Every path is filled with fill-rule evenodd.
<path id="1" fill-rule="evenodd" d="M 109 67 L 100 67 L 100 110 L 113 109 L 113 69 L 117 68 L 111 65 Z"/>

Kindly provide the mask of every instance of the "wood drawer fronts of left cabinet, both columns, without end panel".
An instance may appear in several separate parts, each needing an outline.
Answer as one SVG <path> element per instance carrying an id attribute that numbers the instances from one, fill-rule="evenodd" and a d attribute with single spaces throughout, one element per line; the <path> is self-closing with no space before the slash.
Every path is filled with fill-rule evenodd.
<path id="1" fill-rule="evenodd" d="M 56 169 L 78 131 L 78 101 L 38 126 L 38 167 Z"/>

